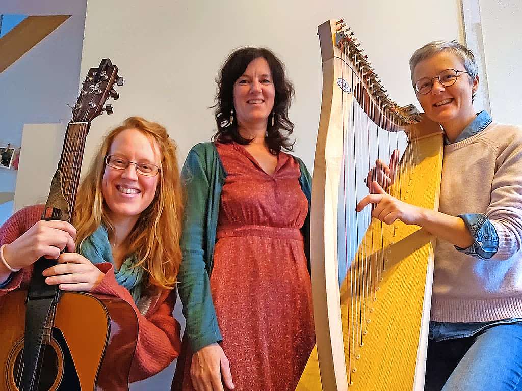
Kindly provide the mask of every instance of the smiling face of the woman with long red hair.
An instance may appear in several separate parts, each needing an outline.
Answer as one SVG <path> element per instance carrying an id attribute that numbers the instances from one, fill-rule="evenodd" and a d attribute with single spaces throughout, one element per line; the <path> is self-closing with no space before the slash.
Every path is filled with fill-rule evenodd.
<path id="1" fill-rule="evenodd" d="M 126 129 L 113 140 L 109 155 L 123 157 L 131 162 L 151 163 L 161 168 L 158 143 L 137 129 Z M 117 224 L 129 219 L 137 221 L 141 212 L 154 200 L 160 174 L 145 176 L 129 164 L 121 170 L 105 165 L 102 194 L 109 207 L 109 217 Z"/>

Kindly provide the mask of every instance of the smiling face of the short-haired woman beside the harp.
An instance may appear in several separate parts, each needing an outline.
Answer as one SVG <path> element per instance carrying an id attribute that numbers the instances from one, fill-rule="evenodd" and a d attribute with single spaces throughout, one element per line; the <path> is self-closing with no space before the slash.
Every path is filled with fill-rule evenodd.
<path id="1" fill-rule="evenodd" d="M 413 71 L 412 80 L 435 78 L 445 69 L 465 71 L 462 60 L 450 52 L 441 52 L 419 62 Z M 479 79 L 470 80 L 468 74 L 459 74 L 455 84 L 445 87 L 433 79 L 428 94 L 417 93 L 417 99 L 428 118 L 440 123 L 445 129 L 463 130 L 475 117 L 471 94 L 476 90 Z"/>

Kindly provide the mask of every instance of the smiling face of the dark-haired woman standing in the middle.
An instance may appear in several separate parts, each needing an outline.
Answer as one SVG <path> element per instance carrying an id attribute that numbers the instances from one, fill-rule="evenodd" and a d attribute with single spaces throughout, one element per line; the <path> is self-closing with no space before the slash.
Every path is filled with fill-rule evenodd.
<path id="1" fill-rule="evenodd" d="M 276 90 L 270 66 L 264 57 L 253 59 L 234 83 L 236 118 L 242 127 L 268 123 Z"/>

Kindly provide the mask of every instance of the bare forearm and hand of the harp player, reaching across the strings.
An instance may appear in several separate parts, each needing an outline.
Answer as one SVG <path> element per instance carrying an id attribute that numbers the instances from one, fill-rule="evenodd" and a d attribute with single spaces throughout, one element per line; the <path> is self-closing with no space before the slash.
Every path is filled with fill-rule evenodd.
<path id="1" fill-rule="evenodd" d="M 384 172 L 387 172 L 386 168 L 389 170 L 389 167 L 384 167 Z M 373 204 L 372 216 L 385 224 L 392 225 L 399 219 L 408 225 L 416 224 L 437 238 L 450 242 L 462 249 L 466 249 L 473 244 L 474 238 L 469 233 L 464 220 L 460 217 L 450 216 L 401 201 L 390 196 L 376 180 L 371 182 L 369 188 L 371 194 L 364 197 L 355 206 L 356 212 L 361 212 L 366 205 Z"/>

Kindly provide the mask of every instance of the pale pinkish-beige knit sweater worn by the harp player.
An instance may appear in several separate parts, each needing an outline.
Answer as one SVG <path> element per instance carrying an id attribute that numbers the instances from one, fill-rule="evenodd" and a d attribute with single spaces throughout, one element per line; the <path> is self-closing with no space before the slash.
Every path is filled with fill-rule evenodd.
<path id="1" fill-rule="evenodd" d="M 478 259 L 437 240 L 431 320 L 522 318 L 522 128 L 492 123 L 446 145 L 439 210 L 487 215 L 499 251 Z"/>

